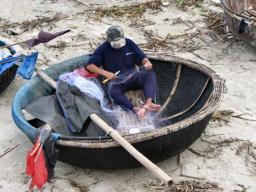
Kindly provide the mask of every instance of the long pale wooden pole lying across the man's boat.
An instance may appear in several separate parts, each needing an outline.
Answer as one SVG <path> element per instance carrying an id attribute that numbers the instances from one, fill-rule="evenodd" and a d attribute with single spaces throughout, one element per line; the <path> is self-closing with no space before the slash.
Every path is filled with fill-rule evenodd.
<path id="1" fill-rule="evenodd" d="M 37 74 L 47 83 L 49 83 L 54 89 L 57 87 L 57 83 L 52 78 L 43 73 L 38 66 L 35 67 Z M 91 120 L 99 125 L 102 130 L 109 134 L 115 141 L 117 141 L 127 152 L 133 155 L 143 166 L 150 170 L 156 177 L 161 179 L 165 184 L 171 186 L 173 180 L 162 169 L 153 164 L 147 157 L 138 152 L 129 142 L 127 142 L 116 130 L 105 123 L 98 115 L 91 114 Z"/>

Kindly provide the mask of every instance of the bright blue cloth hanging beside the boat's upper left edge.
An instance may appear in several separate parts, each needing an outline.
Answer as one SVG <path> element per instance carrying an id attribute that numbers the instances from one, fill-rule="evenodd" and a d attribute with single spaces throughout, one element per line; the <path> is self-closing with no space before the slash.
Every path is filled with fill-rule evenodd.
<path id="1" fill-rule="evenodd" d="M 18 74 L 23 78 L 30 79 L 34 73 L 38 52 L 26 56 L 18 69 Z"/>

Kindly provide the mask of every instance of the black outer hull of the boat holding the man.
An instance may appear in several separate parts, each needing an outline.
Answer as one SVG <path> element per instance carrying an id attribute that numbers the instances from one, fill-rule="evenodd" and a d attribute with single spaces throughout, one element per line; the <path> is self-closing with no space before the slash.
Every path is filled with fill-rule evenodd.
<path id="1" fill-rule="evenodd" d="M 210 118 L 211 115 L 179 132 L 137 142 L 133 146 L 152 162 L 162 162 L 180 154 L 194 143 L 204 131 Z M 34 138 L 30 137 L 30 140 L 34 141 Z M 142 166 L 120 146 L 105 149 L 72 148 L 60 145 L 58 147 L 61 151 L 59 161 L 79 167 L 117 170 Z"/>

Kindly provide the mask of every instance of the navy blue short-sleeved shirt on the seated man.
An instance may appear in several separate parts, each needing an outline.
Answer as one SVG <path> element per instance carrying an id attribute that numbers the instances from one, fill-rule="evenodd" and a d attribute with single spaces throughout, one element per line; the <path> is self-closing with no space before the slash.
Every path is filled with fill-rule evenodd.
<path id="1" fill-rule="evenodd" d="M 103 66 L 104 70 L 112 73 L 120 71 L 119 75 L 135 69 L 135 64 L 140 66 L 147 56 L 131 39 L 125 38 L 125 41 L 121 49 L 114 49 L 108 41 L 104 42 L 94 51 L 86 66 Z"/>

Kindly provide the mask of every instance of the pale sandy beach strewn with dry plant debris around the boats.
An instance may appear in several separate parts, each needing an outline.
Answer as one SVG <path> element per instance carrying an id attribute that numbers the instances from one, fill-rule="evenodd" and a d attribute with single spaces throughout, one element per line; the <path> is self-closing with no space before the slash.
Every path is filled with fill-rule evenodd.
<path id="1" fill-rule="evenodd" d="M 111 25 L 120 25 L 124 36 L 137 43 L 145 53 L 175 55 L 210 67 L 226 78 L 228 90 L 219 110 L 232 110 L 234 113 L 230 114 L 233 116 L 247 115 L 240 116 L 242 118 L 225 116 L 219 118 L 220 122 L 214 118 L 201 137 L 189 147 L 190 150 L 157 166 L 173 178 L 176 186 L 190 181 L 194 184 L 198 182 L 200 186 L 211 184 L 211 191 L 256 191 L 256 49 L 236 38 L 223 20 L 219 1 L 205 0 L 201 4 L 181 7 L 177 6 L 177 1 L 165 1 L 168 5 L 163 10 L 159 7 L 146 8 L 141 12 L 140 19 L 129 17 L 131 13 L 111 17 L 100 14 L 100 11 L 149 1 L 83 2 L 87 5 L 72 0 L 0 0 L 0 36 L 20 42 L 36 37 L 40 29 L 49 33 L 71 29 L 70 33 L 33 48 L 39 52 L 37 65 L 43 70 L 54 63 L 92 53 L 105 41 L 106 29 Z M 53 17 L 56 19 L 47 19 Z M 44 22 L 34 25 L 40 18 L 44 18 Z M 213 24 L 217 18 L 218 23 Z M 34 22 L 27 26 L 28 21 Z M 15 24 L 17 22 L 23 25 Z M 4 29 L 7 24 L 19 34 L 9 36 Z M 147 33 L 158 38 L 157 42 L 170 38 L 173 44 L 156 42 L 148 45 L 153 40 Z M 24 45 L 22 47 L 31 51 Z M 26 154 L 33 144 L 18 129 L 11 116 L 12 99 L 26 82 L 17 75 L 0 95 L 0 155 L 8 148 L 17 146 L 0 157 L 0 191 L 29 189 L 30 179 L 25 173 Z M 252 155 L 248 154 L 248 150 Z M 42 190 L 34 187 L 33 191 L 174 190 L 143 167 L 95 170 L 57 162 L 52 183 L 46 183 Z"/>

